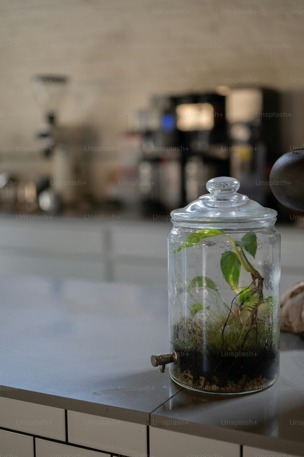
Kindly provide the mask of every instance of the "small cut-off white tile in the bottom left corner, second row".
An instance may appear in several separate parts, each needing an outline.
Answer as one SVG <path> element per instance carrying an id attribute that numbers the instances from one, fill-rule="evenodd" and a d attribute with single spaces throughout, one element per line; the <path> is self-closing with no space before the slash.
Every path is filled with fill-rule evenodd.
<path id="1" fill-rule="evenodd" d="M 0 456 L 33 457 L 33 437 L 0 430 Z"/>

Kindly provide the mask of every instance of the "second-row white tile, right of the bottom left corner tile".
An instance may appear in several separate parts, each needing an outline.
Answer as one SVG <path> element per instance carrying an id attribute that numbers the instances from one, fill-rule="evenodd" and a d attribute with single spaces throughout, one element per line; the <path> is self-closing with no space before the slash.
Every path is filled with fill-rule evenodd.
<path id="1" fill-rule="evenodd" d="M 103 452 L 89 451 L 81 447 L 69 446 L 68 444 L 56 443 L 55 441 L 41 440 L 36 438 L 36 457 L 65 456 L 65 457 L 109 457 Z"/>

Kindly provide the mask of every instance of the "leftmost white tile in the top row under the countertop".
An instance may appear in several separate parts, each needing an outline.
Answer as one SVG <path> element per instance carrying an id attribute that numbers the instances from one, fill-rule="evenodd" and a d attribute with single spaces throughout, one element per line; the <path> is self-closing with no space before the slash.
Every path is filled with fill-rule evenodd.
<path id="1" fill-rule="evenodd" d="M 64 409 L 0 397 L 0 427 L 65 441 Z"/>

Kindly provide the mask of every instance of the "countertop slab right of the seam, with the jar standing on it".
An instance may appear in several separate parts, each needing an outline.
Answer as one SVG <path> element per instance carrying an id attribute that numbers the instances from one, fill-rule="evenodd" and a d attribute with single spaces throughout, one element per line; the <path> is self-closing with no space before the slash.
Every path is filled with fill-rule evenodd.
<path id="1" fill-rule="evenodd" d="M 280 377 L 250 395 L 183 389 L 151 414 L 151 425 L 242 445 L 304 455 L 304 341 L 281 334 Z M 179 422 L 176 424 L 176 419 Z"/>

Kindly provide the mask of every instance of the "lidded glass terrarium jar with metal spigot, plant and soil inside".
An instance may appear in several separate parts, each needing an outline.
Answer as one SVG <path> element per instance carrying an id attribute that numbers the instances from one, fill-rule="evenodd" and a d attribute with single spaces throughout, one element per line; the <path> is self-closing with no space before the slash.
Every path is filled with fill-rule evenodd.
<path id="1" fill-rule="evenodd" d="M 183 387 L 249 393 L 279 374 L 280 235 L 277 212 L 240 195 L 229 177 L 171 212 L 168 235 L 170 365 Z"/>

